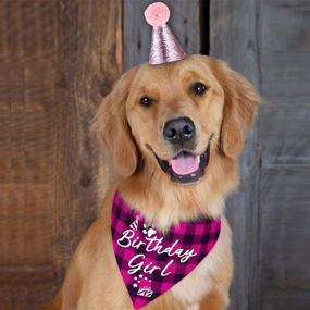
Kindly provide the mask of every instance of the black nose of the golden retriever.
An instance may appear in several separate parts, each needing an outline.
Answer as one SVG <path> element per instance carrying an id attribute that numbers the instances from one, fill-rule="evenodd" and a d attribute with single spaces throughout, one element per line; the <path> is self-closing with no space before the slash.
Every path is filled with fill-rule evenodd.
<path id="1" fill-rule="evenodd" d="M 195 124 L 188 117 L 173 119 L 164 124 L 163 137 L 172 144 L 183 145 L 195 138 Z"/>

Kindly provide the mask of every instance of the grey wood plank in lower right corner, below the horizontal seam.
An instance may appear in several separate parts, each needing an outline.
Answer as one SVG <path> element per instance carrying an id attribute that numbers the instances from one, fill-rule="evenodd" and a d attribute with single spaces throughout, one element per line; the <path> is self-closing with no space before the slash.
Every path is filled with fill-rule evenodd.
<path id="1" fill-rule="evenodd" d="M 309 168 L 262 171 L 259 309 L 309 309 Z"/>

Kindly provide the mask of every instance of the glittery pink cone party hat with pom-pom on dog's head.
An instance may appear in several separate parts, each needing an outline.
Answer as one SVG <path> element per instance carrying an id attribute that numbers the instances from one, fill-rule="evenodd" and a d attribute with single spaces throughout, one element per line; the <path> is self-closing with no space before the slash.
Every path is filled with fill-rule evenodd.
<path id="1" fill-rule="evenodd" d="M 150 4 L 145 11 L 145 17 L 148 24 L 153 27 L 149 55 L 150 64 L 177 61 L 186 57 L 185 51 L 166 25 L 170 10 L 164 3 L 154 2 Z"/>

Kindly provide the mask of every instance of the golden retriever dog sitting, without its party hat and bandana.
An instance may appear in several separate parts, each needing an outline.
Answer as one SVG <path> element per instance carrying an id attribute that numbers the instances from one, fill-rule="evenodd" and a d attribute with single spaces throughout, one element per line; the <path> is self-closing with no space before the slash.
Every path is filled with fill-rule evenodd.
<path id="1" fill-rule="evenodd" d="M 124 73 L 92 124 L 109 151 L 116 182 L 49 309 L 134 309 L 111 240 L 116 189 L 158 231 L 199 216 L 222 219 L 211 252 L 142 309 L 226 309 L 233 259 L 224 200 L 238 185 L 238 156 L 259 102 L 248 80 L 209 57 L 141 64 Z M 186 158 L 193 161 L 188 171 L 175 164 Z"/>

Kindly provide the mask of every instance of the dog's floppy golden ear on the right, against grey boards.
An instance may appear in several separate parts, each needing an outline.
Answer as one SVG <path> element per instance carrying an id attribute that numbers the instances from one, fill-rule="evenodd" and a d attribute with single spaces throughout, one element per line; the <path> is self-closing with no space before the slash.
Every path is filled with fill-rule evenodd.
<path id="1" fill-rule="evenodd" d="M 213 73 L 224 90 L 224 111 L 221 127 L 221 149 L 236 158 L 244 148 L 246 135 L 260 103 L 255 87 L 225 63 L 215 61 Z"/>

